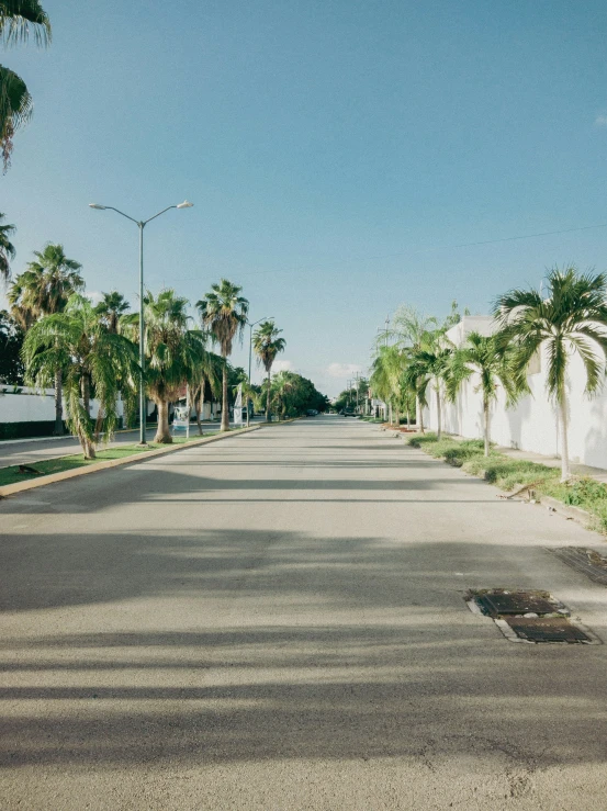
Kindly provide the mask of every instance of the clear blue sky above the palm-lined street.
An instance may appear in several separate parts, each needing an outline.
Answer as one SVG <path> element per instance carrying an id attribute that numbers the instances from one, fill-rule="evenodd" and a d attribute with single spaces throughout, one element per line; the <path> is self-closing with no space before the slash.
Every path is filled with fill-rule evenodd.
<path id="1" fill-rule="evenodd" d="M 46 0 L 12 48 L 35 115 L 0 178 L 31 251 L 63 243 L 90 292 L 192 301 L 225 275 L 335 394 L 402 302 L 487 312 L 544 269 L 607 267 L 607 4 L 599 0 Z M 246 362 L 237 351 L 234 361 Z"/>

